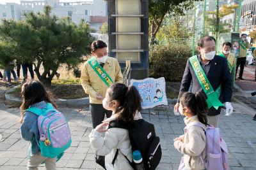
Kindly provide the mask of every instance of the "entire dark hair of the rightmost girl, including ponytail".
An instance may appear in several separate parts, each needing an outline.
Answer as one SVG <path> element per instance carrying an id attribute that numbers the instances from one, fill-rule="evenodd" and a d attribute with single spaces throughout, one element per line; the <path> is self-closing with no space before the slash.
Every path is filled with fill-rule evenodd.
<path id="1" fill-rule="evenodd" d="M 197 115 L 199 122 L 207 125 L 208 106 L 202 92 L 186 92 L 180 98 L 180 103 L 182 107 L 188 107 L 193 115 Z"/>

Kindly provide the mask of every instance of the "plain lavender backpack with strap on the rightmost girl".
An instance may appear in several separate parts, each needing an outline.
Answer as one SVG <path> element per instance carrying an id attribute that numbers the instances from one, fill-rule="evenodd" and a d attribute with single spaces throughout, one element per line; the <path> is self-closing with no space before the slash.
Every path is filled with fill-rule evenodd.
<path id="1" fill-rule="evenodd" d="M 200 159 L 207 170 L 227 170 L 228 169 L 228 148 L 225 141 L 220 137 L 220 129 L 212 125 L 207 126 L 200 122 L 192 122 L 186 130 L 191 126 L 202 127 L 206 136 L 206 161 L 200 155 Z"/>

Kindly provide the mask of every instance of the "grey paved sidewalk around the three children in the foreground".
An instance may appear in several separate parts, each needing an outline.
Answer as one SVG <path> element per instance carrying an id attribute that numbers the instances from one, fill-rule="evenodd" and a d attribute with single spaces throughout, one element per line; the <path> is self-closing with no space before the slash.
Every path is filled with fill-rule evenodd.
<path id="1" fill-rule="evenodd" d="M 221 135 L 229 150 L 230 169 L 256 169 L 256 122 L 253 111 L 240 104 L 234 104 L 235 113 L 230 117 L 221 116 Z M 158 169 L 177 169 L 181 154 L 173 147 L 173 138 L 183 134 L 183 117 L 173 115 L 173 105 L 159 107 L 156 115 L 143 111 L 143 118 L 155 125 L 161 138 L 163 157 Z M 101 169 L 95 163 L 88 135 L 92 131 L 90 111 L 60 108 L 68 119 L 72 131 L 72 147 L 67 150 L 58 169 Z M 20 138 L 19 110 L 0 104 L 0 169 L 26 169 L 28 142 Z M 1 138 L 1 137 L 0 137 Z M 45 169 L 40 167 L 39 169 Z"/>

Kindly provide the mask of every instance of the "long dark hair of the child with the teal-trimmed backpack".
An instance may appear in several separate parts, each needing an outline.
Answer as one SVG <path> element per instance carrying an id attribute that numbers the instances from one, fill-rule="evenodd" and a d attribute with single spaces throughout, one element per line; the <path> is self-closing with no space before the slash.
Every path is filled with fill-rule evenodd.
<path id="1" fill-rule="evenodd" d="M 38 81 L 24 83 L 21 94 L 22 104 L 20 106 L 20 123 L 23 122 L 24 110 L 28 109 L 31 104 L 45 101 L 47 103 L 51 103 L 55 108 L 57 108 L 56 104 L 51 101 L 49 94 L 44 89 L 44 86 Z"/>

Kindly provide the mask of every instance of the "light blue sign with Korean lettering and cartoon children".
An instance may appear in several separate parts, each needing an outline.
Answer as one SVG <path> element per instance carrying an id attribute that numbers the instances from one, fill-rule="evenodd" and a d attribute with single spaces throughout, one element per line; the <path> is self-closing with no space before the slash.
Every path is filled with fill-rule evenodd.
<path id="1" fill-rule="evenodd" d="M 168 105 L 165 80 L 161 78 L 145 78 L 143 80 L 131 80 L 131 85 L 134 85 L 139 91 L 142 99 L 142 108 L 154 108 L 159 105 Z"/>

